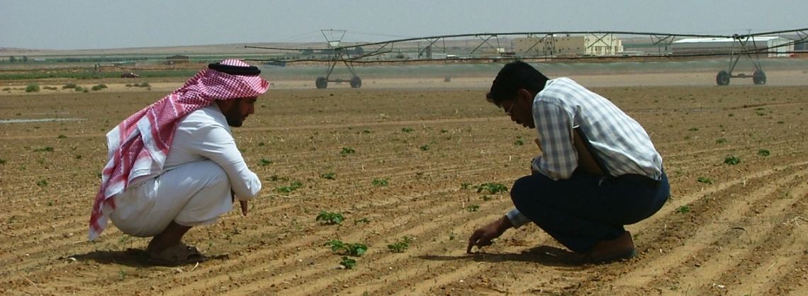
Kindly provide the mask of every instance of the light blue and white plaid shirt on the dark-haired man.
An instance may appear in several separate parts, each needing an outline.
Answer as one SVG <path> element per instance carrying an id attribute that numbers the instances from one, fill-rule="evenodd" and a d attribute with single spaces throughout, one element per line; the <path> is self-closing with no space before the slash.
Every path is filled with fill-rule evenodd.
<path id="1" fill-rule="evenodd" d="M 608 99 L 570 78 L 547 81 L 545 89 L 533 98 L 533 122 L 543 150 L 542 156 L 533 160 L 533 170 L 553 180 L 568 179 L 578 168 L 575 127 L 586 133 L 612 176 L 634 173 L 656 180 L 662 177 L 662 156 L 645 129 Z M 516 209 L 507 217 L 514 227 L 530 222 Z"/>

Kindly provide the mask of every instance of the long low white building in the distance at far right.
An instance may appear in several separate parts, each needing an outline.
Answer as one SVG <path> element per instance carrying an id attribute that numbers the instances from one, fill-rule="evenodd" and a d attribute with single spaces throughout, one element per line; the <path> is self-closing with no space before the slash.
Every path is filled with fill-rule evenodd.
<path id="1" fill-rule="evenodd" d="M 746 42 L 747 50 L 768 48 L 768 56 L 789 56 L 788 52 L 793 52 L 794 45 L 784 45 L 791 40 L 776 36 L 750 37 Z M 687 38 L 673 42 L 674 55 L 698 55 L 716 54 L 730 52 L 739 53 L 743 50 L 741 42 L 732 38 Z"/>

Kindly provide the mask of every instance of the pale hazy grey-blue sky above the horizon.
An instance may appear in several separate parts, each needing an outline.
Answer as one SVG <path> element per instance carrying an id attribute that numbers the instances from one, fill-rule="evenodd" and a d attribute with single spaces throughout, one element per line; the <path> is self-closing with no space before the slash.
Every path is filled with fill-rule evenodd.
<path id="1" fill-rule="evenodd" d="M 732 35 L 808 27 L 806 0 L 0 0 L 0 47 L 384 41 L 517 31 Z"/>

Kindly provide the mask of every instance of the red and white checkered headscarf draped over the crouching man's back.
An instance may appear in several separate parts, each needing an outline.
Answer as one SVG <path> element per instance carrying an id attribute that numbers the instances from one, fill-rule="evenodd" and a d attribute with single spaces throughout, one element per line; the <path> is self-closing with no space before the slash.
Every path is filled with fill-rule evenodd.
<path id="1" fill-rule="evenodd" d="M 221 65 L 250 66 L 242 60 L 223 60 Z M 258 75 L 231 75 L 204 69 L 183 87 L 138 111 L 107 133 L 107 165 L 90 215 L 90 240 L 95 240 L 107 227 L 109 215 L 115 210 L 113 195 L 124 192 L 135 178 L 162 173 L 178 119 L 214 100 L 258 96 L 265 93 L 268 86 L 269 82 Z"/>

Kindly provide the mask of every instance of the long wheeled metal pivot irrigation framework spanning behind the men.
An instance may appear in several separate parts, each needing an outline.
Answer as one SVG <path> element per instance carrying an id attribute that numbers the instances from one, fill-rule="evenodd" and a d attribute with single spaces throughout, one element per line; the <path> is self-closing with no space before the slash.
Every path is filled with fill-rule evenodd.
<path id="1" fill-rule="evenodd" d="M 342 39 L 345 34 L 344 30 L 321 30 L 324 37 L 326 37 L 326 41 L 328 44 L 327 48 L 278 48 L 278 47 L 262 47 L 262 46 L 245 46 L 245 48 L 263 48 L 268 50 L 276 50 L 276 51 L 313 51 L 318 50 L 321 52 L 330 52 L 330 55 L 327 59 L 322 58 L 303 58 L 303 59 L 294 59 L 294 60 L 283 60 L 286 63 L 294 63 L 294 62 L 302 62 L 302 61 L 319 61 L 319 62 L 327 62 L 329 64 L 328 71 L 326 72 L 325 77 L 318 77 L 315 85 L 317 85 L 318 89 L 324 89 L 327 87 L 328 82 L 341 82 L 342 79 L 335 79 L 331 80 L 330 75 L 333 72 L 335 66 L 342 62 L 348 70 L 351 72 L 351 87 L 359 88 L 362 85 L 360 77 L 356 75 L 356 72 L 353 69 L 354 64 L 359 63 L 388 63 L 391 61 L 395 62 L 414 62 L 414 61 L 435 61 L 436 59 L 431 58 L 432 52 L 452 52 L 452 58 L 458 60 L 467 60 L 467 61 L 474 61 L 474 60 L 580 60 L 580 59 L 620 59 L 620 58 L 676 58 L 676 57 L 695 57 L 695 56 L 725 56 L 727 54 L 730 55 L 730 67 L 729 69 L 722 70 L 718 73 L 716 77 L 716 82 L 718 85 L 728 85 L 730 77 L 752 77 L 755 84 L 765 84 L 766 77 L 765 73 L 763 72 L 763 68 L 760 65 L 760 54 L 761 53 L 768 53 L 774 50 L 775 48 L 781 47 L 789 47 L 793 46 L 794 44 L 801 44 L 808 42 L 808 28 L 802 28 L 797 30 L 786 30 L 786 31 L 769 31 L 769 32 L 762 32 L 762 33 L 755 33 L 755 34 L 745 34 L 745 35 L 704 35 L 704 34 L 672 34 L 672 33 L 658 33 L 658 32 L 642 32 L 642 31 L 523 31 L 523 32 L 508 32 L 508 33 L 476 33 L 476 34 L 458 34 L 458 35 L 436 35 L 436 36 L 427 36 L 427 37 L 417 37 L 417 38 L 406 38 L 406 39 L 398 39 L 398 40 L 387 40 L 381 42 L 372 42 L 372 43 L 364 43 L 364 44 L 350 44 L 350 45 L 342 45 Z M 326 35 L 326 32 L 329 32 L 332 36 L 335 32 L 338 33 L 338 38 L 329 38 Z M 764 47 L 759 48 L 755 45 L 755 37 L 756 36 L 772 36 L 772 35 L 784 35 L 790 34 L 795 35 L 796 40 L 791 40 L 786 44 L 779 44 L 777 46 L 772 47 Z M 560 45 L 555 40 L 554 37 L 557 36 L 591 36 L 594 39 L 594 42 L 587 45 L 586 48 L 580 50 L 579 52 L 567 52 L 566 54 L 559 54 L 558 52 Z M 591 49 L 591 47 L 595 46 L 598 43 L 604 43 L 604 39 L 607 37 L 611 38 L 615 35 L 624 37 L 624 38 L 650 38 L 650 46 L 655 48 L 657 52 L 643 52 L 642 54 L 612 54 L 612 55 L 594 55 L 591 53 L 587 53 L 587 49 Z M 511 44 L 511 40 L 508 39 L 507 45 L 503 46 L 503 40 L 500 38 L 520 38 L 520 37 L 534 37 L 534 36 L 542 36 L 545 40 L 549 41 L 545 42 L 545 47 L 548 47 L 549 50 L 545 51 L 545 54 L 542 55 L 520 55 L 514 51 L 503 51 L 502 48 L 512 48 L 513 45 Z M 682 38 L 732 38 L 737 40 L 737 44 L 739 44 L 739 49 L 735 49 L 734 45 L 731 48 L 730 52 L 706 52 L 706 53 L 692 53 L 692 54 L 675 54 L 671 50 L 671 44 L 677 39 Z M 468 44 L 469 42 L 476 41 L 476 44 L 470 44 L 470 46 L 465 46 L 460 49 L 457 47 L 452 47 L 448 44 L 458 41 L 465 42 Z M 751 44 L 749 42 L 751 41 Z M 420 46 L 421 42 L 426 42 L 426 46 L 423 48 Z M 418 44 L 417 50 L 413 51 L 413 44 Z M 528 51 L 532 48 L 535 48 L 539 42 L 536 42 L 528 47 Z M 351 55 L 351 48 L 354 50 L 356 48 L 362 48 L 360 54 L 353 54 Z M 398 48 L 398 57 L 396 59 L 370 59 L 372 56 L 381 56 L 381 55 L 388 55 L 388 54 L 396 54 L 396 50 Z M 469 50 L 470 48 L 470 50 Z M 485 49 L 494 49 L 493 54 L 485 55 L 483 54 Z M 412 58 L 402 58 L 402 52 L 410 50 L 410 52 L 415 52 L 416 56 Z M 356 50 L 355 50 L 356 52 Z M 549 52 L 549 53 L 547 53 Z M 753 56 L 754 55 L 754 56 Z M 755 74 L 753 75 L 746 75 L 746 74 L 738 74 L 733 75 L 733 71 L 735 65 L 737 65 L 740 56 L 748 56 L 750 59 L 753 60 L 755 65 Z M 263 61 L 279 61 L 279 60 L 263 60 Z"/>

